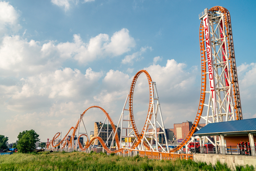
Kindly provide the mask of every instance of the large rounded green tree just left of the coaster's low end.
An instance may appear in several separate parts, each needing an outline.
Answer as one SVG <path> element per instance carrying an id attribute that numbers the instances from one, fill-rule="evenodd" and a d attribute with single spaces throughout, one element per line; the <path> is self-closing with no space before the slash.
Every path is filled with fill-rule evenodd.
<path id="1" fill-rule="evenodd" d="M 38 137 L 39 135 L 34 130 L 30 130 L 30 131 L 26 130 L 26 131 L 23 131 L 22 133 L 19 133 L 18 144 L 17 144 L 18 152 L 19 153 L 33 152 L 33 150 L 36 147 L 35 143 L 40 141 Z"/>

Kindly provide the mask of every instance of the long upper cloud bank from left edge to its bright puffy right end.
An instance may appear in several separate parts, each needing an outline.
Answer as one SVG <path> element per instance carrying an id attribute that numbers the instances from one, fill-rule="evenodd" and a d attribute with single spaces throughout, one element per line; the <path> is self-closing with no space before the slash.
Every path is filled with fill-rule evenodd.
<path id="1" fill-rule="evenodd" d="M 127 29 L 115 32 L 111 39 L 108 34 L 99 34 L 83 42 L 80 35 L 74 34 L 73 42 L 56 44 L 56 41 L 49 41 L 43 45 L 18 35 L 4 36 L 0 44 L 0 76 L 30 75 L 45 69 L 53 71 L 68 58 L 87 65 L 96 59 L 119 56 L 135 45 Z"/>

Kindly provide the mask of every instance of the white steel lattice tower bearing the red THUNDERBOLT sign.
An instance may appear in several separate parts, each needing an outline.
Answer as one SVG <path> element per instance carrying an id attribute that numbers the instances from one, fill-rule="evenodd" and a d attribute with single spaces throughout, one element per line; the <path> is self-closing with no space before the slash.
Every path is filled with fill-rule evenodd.
<path id="1" fill-rule="evenodd" d="M 205 124 L 235 120 L 224 13 L 209 12 L 205 9 L 199 14 L 199 19 L 203 20 L 206 75 L 207 82 L 209 81 L 206 86 L 208 90 L 205 91 L 209 100 L 205 100 L 203 104 L 206 112 L 201 116 L 201 120 L 204 120 Z M 205 138 L 208 137 L 203 137 L 203 146 Z M 215 143 L 210 142 L 216 147 L 222 144 L 217 142 L 217 137 Z"/>

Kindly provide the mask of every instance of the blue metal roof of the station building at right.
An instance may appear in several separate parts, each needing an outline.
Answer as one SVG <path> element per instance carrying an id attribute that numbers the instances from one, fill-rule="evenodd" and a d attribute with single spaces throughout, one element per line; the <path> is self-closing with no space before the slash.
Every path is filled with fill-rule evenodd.
<path id="1" fill-rule="evenodd" d="M 256 118 L 209 123 L 194 135 L 256 132 Z"/>

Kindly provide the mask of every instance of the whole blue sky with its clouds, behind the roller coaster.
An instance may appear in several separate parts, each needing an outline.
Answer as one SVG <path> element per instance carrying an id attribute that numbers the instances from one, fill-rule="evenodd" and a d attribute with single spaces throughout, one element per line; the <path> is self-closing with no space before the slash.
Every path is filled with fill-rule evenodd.
<path id="1" fill-rule="evenodd" d="M 117 123 L 141 69 L 157 82 L 165 127 L 194 121 L 198 14 L 214 6 L 230 12 L 243 116 L 256 117 L 254 1 L 0 1 L 0 134 L 14 142 L 33 129 L 46 141 L 66 133 L 91 105 Z M 135 90 L 138 125 L 148 105 L 145 81 L 139 78 Z M 88 130 L 103 119 L 92 110 Z"/>

